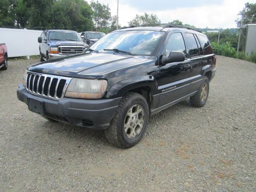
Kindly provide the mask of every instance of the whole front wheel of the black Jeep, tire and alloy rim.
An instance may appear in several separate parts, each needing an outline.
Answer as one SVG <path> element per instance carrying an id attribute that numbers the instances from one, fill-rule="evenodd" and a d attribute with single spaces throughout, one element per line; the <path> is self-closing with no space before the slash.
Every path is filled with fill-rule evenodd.
<path id="1" fill-rule="evenodd" d="M 105 130 L 106 138 L 113 145 L 130 148 L 142 139 L 148 118 L 145 98 L 138 93 L 127 93 L 120 101 L 109 128 Z"/>

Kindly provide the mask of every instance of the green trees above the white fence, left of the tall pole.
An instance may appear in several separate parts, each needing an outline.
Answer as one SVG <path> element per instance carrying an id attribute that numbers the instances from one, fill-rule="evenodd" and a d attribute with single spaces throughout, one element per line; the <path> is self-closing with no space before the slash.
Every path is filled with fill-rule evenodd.
<path id="1" fill-rule="evenodd" d="M 116 16 L 98 1 L 2 0 L 0 27 L 109 32 L 116 29 Z"/>

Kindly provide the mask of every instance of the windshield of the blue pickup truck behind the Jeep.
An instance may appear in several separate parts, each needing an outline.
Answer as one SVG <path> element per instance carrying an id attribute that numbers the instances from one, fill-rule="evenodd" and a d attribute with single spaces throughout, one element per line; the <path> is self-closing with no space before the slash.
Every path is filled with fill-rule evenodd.
<path id="1" fill-rule="evenodd" d="M 81 37 L 73 31 L 50 31 L 49 40 L 82 41 Z"/>

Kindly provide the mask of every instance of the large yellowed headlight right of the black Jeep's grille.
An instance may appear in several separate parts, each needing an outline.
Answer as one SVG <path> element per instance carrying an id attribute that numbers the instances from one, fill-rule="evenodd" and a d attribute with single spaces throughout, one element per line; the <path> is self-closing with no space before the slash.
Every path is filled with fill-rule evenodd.
<path id="1" fill-rule="evenodd" d="M 108 81 L 106 80 L 73 78 L 69 83 L 65 97 L 99 99 L 104 95 L 107 86 Z"/>

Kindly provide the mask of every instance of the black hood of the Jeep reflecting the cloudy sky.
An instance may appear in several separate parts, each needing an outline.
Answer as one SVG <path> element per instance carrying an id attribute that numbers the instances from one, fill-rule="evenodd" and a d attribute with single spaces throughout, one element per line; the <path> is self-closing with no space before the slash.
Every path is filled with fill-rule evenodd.
<path id="1" fill-rule="evenodd" d="M 137 65 L 150 59 L 118 53 L 82 53 L 37 63 L 29 71 L 67 77 L 97 78 L 121 68 Z"/>

